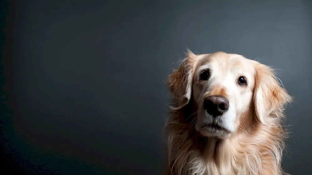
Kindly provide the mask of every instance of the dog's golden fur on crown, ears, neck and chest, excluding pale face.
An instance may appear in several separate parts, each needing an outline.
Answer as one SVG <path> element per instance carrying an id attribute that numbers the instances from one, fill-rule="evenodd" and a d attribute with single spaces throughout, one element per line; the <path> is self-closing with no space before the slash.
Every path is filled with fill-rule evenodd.
<path id="1" fill-rule="evenodd" d="M 241 66 L 252 75 L 250 89 L 246 91 L 251 94 L 245 100 L 246 110 L 236 111 L 237 129 L 225 138 L 204 136 L 195 127 L 199 117 L 199 107 L 193 98 L 193 87 L 198 86 L 196 69 L 212 61 L 218 62 L 221 72 Z M 167 175 L 283 173 L 281 159 L 286 131 L 282 119 L 291 97 L 280 87 L 270 67 L 236 54 L 195 55 L 188 51 L 181 66 L 169 76 L 168 85 L 172 106 L 171 117 L 164 127 L 168 134 Z M 211 87 L 206 95 L 211 94 L 228 95 L 222 85 Z"/>

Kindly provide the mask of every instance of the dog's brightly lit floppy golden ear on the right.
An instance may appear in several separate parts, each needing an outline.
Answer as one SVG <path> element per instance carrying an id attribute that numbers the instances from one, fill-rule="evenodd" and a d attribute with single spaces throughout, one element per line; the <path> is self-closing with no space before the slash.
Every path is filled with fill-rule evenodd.
<path id="1" fill-rule="evenodd" d="M 285 104 L 292 98 L 284 88 L 280 86 L 270 67 L 254 62 L 256 70 L 256 87 L 254 91 L 254 104 L 257 118 L 265 123 L 268 116 L 280 116 Z"/>

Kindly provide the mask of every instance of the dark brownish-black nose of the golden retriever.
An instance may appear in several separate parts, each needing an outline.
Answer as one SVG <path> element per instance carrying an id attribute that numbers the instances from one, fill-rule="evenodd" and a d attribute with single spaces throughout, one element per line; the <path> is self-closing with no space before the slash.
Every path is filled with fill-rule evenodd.
<path id="1" fill-rule="evenodd" d="M 204 109 L 212 116 L 219 116 L 229 109 L 229 100 L 222 96 L 211 95 L 204 101 Z"/>

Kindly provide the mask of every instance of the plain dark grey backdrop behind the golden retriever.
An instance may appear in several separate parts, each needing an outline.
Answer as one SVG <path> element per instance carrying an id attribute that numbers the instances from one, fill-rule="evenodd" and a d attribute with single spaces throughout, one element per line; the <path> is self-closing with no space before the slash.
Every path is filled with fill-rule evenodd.
<path id="1" fill-rule="evenodd" d="M 160 174 L 165 80 L 188 47 L 281 69 L 279 78 L 295 97 L 286 111 L 294 134 L 283 167 L 311 172 L 311 2 L 14 4 L 7 76 L 14 114 L 4 119 L 11 122 L 6 151 L 23 171 Z"/>

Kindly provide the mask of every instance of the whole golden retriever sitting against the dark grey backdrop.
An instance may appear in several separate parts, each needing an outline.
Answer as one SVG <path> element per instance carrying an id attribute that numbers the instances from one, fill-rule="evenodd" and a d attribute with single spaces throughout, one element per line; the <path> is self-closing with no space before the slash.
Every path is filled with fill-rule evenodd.
<path id="1" fill-rule="evenodd" d="M 292 97 L 275 71 L 238 54 L 188 50 L 169 75 L 167 175 L 276 175 Z"/>

